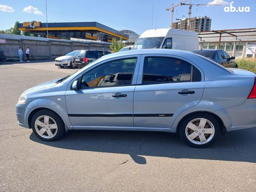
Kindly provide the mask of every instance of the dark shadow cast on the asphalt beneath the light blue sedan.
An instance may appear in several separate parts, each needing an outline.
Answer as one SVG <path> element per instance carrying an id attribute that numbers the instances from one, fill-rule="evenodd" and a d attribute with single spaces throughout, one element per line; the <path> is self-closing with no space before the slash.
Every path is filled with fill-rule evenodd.
<path id="1" fill-rule="evenodd" d="M 56 148 L 129 154 L 138 164 L 146 164 L 142 156 L 256 163 L 255 137 L 256 129 L 232 131 L 199 149 L 185 145 L 176 134 L 161 132 L 77 130 L 53 142 L 30 135 L 32 141 Z"/>

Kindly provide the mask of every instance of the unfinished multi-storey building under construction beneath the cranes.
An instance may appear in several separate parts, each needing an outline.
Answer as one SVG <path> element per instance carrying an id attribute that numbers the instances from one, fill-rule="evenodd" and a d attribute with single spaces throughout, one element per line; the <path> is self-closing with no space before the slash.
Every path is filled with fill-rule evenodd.
<path id="1" fill-rule="evenodd" d="M 188 26 L 188 18 L 181 19 L 178 22 L 173 23 L 173 29 L 191 30 L 191 31 L 211 31 L 210 17 L 193 17 L 190 19 L 190 26 Z"/>

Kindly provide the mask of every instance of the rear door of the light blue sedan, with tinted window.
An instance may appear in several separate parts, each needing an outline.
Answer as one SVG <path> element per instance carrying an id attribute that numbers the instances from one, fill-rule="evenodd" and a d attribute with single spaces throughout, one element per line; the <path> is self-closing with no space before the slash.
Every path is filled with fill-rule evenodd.
<path id="1" fill-rule="evenodd" d="M 181 112 L 200 102 L 203 72 L 169 55 L 144 55 L 141 60 L 134 91 L 134 126 L 171 127 Z"/>

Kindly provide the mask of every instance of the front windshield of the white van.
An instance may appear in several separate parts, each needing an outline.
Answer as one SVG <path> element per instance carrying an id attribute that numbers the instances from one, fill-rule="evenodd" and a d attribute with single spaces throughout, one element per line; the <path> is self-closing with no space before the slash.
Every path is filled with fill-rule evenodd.
<path id="1" fill-rule="evenodd" d="M 164 37 L 138 38 L 133 46 L 133 50 L 139 49 L 159 49 Z"/>

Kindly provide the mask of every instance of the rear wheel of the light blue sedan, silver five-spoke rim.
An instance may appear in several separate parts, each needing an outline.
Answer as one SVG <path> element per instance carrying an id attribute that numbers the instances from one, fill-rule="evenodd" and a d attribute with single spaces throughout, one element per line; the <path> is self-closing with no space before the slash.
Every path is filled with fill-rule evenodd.
<path id="1" fill-rule="evenodd" d="M 179 125 L 181 139 L 195 148 L 204 148 L 212 145 L 219 132 L 220 126 L 217 119 L 208 113 L 191 114 L 185 117 Z"/>

